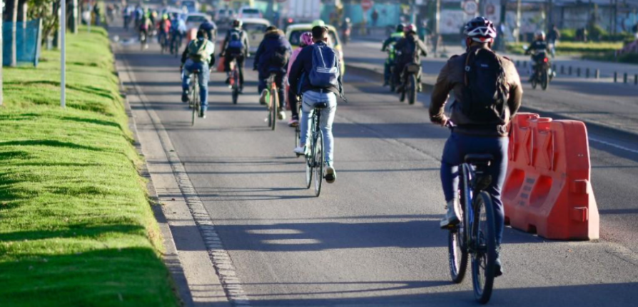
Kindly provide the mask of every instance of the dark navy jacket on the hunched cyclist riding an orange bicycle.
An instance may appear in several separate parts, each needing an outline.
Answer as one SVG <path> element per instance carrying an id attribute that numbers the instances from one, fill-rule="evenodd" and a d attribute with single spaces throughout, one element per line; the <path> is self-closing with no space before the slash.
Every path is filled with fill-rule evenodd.
<path id="1" fill-rule="evenodd" d="M 283 66 L 270 63 L 270 59 L 278 49 L 287 49 L 288 56 L 293 53 L 293 49 L 290 47 L 290 43 L 285 39 L 282 31 L 268 31 L 263 36 L 263 41 L 259 44 L 257 53 L 255 53 L 255 69 L 258 69 L 260 74 L 267 75 L 270 72 L 278 71 L 285 74 L 288 69 L 288 63 Z"/>

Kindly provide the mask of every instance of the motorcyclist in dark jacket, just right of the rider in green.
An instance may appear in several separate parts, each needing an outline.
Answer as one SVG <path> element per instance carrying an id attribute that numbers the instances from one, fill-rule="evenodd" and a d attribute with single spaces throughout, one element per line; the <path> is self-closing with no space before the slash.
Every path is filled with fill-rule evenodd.
<path id="1" fill-rule="evenodd" d="M 405 37 L 399 39 L 395 45 L 395 50 L 398 54 L 397 63 L 395 66 L 395 80 L 399 80 L 400 86 L 397 91 L 403 91 L 405 85 L 405 78 L 403 69 L 410 63 L 419 64 L 421 66 L 421 56 L 427 56 L 427 47 L 417 36 L 417 27 L 414 24 L 408 24 L 403 27 L 403 33 Z M 419 86 L 418 91 L 421 88 L 421 74 L 417 75 L 417 84 Z"/>

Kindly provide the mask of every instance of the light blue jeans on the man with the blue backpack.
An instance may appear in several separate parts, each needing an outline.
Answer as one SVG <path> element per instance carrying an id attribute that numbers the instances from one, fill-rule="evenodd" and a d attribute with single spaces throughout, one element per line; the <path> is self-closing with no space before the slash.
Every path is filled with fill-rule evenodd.
<path id="1" fill-rule="evenodd" d="M 321 111 L 319 126 L 323 132 L 325 161 L 332 166 L 334 161 L 333 149 L 335 148 L 333 122 L 335 121 L 335 112 L 337 111 L 337 96 L 334 93 L 319 93 L 317 91 L 305 91 L 303 93 L 303 102 L 301 104 L 300 144 L 306 144 L 308 141 L 308 134 L 310 134 L 310 116 L 312 116 L 313 111 L 315 111 L 315 104 L 320 102 L 328 103 L 328 108 Z"/>

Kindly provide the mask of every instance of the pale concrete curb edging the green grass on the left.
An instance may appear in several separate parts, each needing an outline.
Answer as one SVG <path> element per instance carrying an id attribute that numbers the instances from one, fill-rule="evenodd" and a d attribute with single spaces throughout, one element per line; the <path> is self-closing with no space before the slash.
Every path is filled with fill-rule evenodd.
<path id="1" fill-rule="evenodd" d="M 113 46 L 111 45 L 111 51 L 113 51 Z M 115 53 L 113 52 L 113 55 Z M 138 170 L 140 176 L 146 179 L 146 189 L 148 191 L 149 205 L 151 205 L 151 210 L 153 210 L 153 216 L 159 225 L 160 231 L 162 233 L 162 242 L 164 246 L 164 253 L 162 260 L 168 271 L 171 272 L 171 277 L 173 281 L 173 292 L 176 293 L 178 300 L 181 306 L 194 306 L 193 296 L 191 295 L 191 291 L 188 288 L 188 281 L 186 280 L 186 274 L 184 273 L 183 267 L 181 266 L 181 262 L 179 260 L 179 256 L 177 254 L 177 248 L 175 241 L 173 240 L 173 233 L 171 233 L 171 228 L 168 226 L 168 221 L 166 216 L 164 215 L 161 202 L 157 193 L 155 186 L 153 185 L 153 180 L 151 179 L 151 173 L 148 171 L 148 164 L 146 163 L 146 157 L 142 153 L 141 143 L 138 138 L 138 129 L 136 125 L 135 117 L 133 116 L 133 110 L 131 109 L 131 104 L 128 103 L 128 97 L 126 93 L 126 88 L 124 87 L 122 80 L 119 76 L 119 71 L 117 71 L 117 66 L 113 64 L 113 67 L 116 69 L 116 75 L 118 76 L 118 81 L 120 83 L 120 92 L 124 99 L 124 108 L 126 111 L 126 116 L 128 117 L 128 129 L 133 133 L 133 146 L 135 147 L 137 153 L 142 157 L 143 163 L 141 168 Z"/>

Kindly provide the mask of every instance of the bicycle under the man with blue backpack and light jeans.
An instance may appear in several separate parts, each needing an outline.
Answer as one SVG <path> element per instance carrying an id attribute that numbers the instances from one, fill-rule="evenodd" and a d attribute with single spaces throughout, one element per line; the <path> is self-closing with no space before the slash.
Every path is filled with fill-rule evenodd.
<path id="1" fill-rule="evenodd" d="M 323 166 L 325 165 L 325 152 L 323 142 L 323 131 L 321 131 L 321 111 L 328 108 L 327 102 L 315 104 L 313 115 L 310 117 L 310 144 L 308 154 L 305 155 L 305 188 L 310 188 L 315 183 L 315 196 L 321 193 L 321 183 L 323 181 Z M 308 145 L 307 145 L 308 146 Z M 299 156 L 299 155 L 298 155 Z M 314 177 L 314 181 L 313 181 Z"/>

